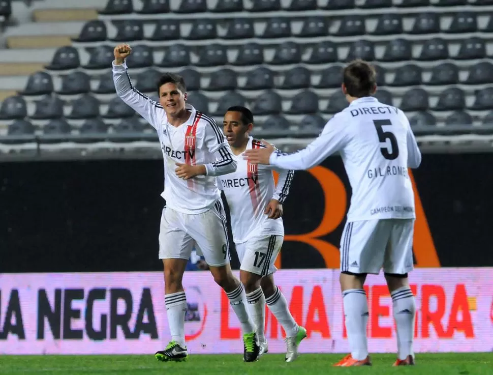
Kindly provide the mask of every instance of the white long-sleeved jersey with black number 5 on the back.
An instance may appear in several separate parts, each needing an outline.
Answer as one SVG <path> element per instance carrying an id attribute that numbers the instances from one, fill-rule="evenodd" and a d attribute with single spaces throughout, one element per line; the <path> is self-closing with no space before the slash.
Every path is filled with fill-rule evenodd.
<path id="1" fill-rule="evenodd" d="M 416 217 L 408 168 L 419 166 L 421 153 L 402 110 L 373 97 L 356 99 L 305 149 L 274 152 L 270 164 L 309 169 L 335 152 L 353 192 L 348 221 Z"/>

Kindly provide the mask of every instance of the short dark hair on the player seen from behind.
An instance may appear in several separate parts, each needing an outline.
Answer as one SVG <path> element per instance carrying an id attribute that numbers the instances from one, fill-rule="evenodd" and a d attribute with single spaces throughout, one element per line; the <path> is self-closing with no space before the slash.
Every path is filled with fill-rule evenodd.
<path id="1" fill-rule="evenodd" d="M 355 98 L 371 96 L 377 86 L 377 73 L 366 61 L 354 60 L 344 68 L 343 82 L 350 96 Z"/>

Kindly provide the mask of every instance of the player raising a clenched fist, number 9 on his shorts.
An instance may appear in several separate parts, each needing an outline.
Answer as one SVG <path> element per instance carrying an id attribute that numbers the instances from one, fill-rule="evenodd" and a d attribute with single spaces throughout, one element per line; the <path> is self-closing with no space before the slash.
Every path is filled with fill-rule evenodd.
<path id="1" fill-rule="evenodd" d="M 217 176 L 236 170 L 236 161 L 221 129 L 205 113 L 186 104 L 183 78 L 164 74 L 157 82 L 159 103 L 137 91 L 125 59 L 128 44 L 114 49 L 116 93 L 157 133 L 163 150 L 166 206 L 161 216 L 159 258 L 163 259 L 165 302 L 171 341 L 156 353 L 160 361 L 181 361 L 188 356 L 184 336 L 187 299 L 181 280 L 192 248 L 197 245 L 210 272 L 226 292 L 243 330 L 245 362 L 255 361 L 259 345 L 255 326 L 246 311 L 243 284 L 229 265 L 226 215 Z"/>

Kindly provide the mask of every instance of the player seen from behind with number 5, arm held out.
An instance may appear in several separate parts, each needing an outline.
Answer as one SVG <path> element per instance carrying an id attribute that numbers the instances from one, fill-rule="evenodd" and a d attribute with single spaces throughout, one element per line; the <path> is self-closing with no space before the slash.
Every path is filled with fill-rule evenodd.
<path id="1" fill-rule="evenodd" d="M 353 191 L 341 239 L 341 289 L 351 353 L 336 366 L 371 365 L 366 324 L 368 304 L 363 284 L 368 273 L 383 268 L 397 327 L 397 365 L 414 364 L 415 301 L 408 272 L 413 270 L 414 195 L 408 168 L 421 153 L 402 110 L 380 103 L 374 68 L 361 60 L 343 74 L 349 106 L 325 125 L 320 136 L 294 154 L 247 150 L 252 163 L 285 169 L 309 169 L 340 153 Z"/>

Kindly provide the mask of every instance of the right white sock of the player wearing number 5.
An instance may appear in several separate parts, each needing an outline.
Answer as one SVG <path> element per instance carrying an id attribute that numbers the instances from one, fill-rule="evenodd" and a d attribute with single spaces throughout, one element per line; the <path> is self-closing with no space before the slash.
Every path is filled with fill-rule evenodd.
<path id="1" fill-rule="evenodd" d="M 414 319 L 416 316 L 416 303 L 413 292 L 408 286 L 400 287 L 393 291 L 392 312 L 397 326 L 397 356 L 406 359 L 411 355 L 414 358 Z"/>

